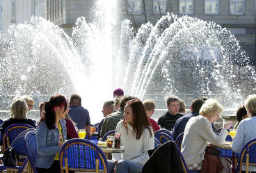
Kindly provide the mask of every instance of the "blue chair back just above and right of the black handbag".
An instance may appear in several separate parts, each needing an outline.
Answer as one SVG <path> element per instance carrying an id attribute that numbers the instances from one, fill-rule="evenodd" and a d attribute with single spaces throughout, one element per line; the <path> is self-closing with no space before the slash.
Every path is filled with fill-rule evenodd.
<path id="1" fill-rule="evenodd" d="M 14 147 L 17 150 L 17 153 L 19 155 L 26 156 L 26 140 L 25 135 L 26 133 L 29 133 L 29 131 L 35 132 L 35 129 L 26 129 L 25 131 L 22 131 L 15 140 L 13 140 L 11 147 Z"/>

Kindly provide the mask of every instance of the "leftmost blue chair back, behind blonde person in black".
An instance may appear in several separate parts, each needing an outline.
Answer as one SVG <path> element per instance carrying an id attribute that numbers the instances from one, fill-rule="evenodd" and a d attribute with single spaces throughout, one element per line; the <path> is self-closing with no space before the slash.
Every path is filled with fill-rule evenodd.
<path id="1" fill-rule="evenodd" d="M 11 124 L 8 126 L 2 134 L 3 151 L 6 150 L 6 148 L 9 147 L 10 144 L 15 140 L 15 138 L 26 129 L 34 128 L 29 124 Z"/>

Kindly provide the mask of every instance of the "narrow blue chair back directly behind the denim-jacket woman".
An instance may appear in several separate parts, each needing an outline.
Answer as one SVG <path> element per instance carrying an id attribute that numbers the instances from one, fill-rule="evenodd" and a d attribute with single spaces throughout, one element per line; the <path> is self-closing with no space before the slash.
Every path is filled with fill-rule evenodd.
<path id="1" fill-rule="evenodd" d="M 33 172 L 37 173 L 36 168 L 35 168 L 35 158 L 37 154 L 37 144 L 36 144 L 36 137 L 35 137 L 35 132 L 34 131 L 29 131 L 25 135 L 25 149 L 26 149 L 26 154 L 29 158 L 29 163 L 33 169 Z"/>

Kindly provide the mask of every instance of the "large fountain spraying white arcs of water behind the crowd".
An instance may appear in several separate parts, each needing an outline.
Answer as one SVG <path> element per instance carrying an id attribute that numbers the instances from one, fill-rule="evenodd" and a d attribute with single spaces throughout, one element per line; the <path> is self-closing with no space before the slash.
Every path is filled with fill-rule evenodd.
<path id="1" fill-rule="evenodd" d="M 8 110 L 15 95 L 30 94 L 38 104 L 51 94 L 77 93 L 96 123 L 115 88 L 154 99 L 157 108 L 165 108 L 169 94 L 187 105 L 207 96 L 237 108 L 255 92 L 246 52 L 214 22 L 168 14 L 134 34 L 131 22 L 114 19 L 114 4 L 97 7 L 95 22 L 80 17 L 71 37 L 41 17 L 9 28 L 1 50 L 0 110 Z"/>

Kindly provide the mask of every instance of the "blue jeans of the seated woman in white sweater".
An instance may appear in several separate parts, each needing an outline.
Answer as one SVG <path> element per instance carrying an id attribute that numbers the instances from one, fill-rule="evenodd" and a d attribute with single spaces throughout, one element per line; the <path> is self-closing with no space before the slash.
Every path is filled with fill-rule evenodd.
<path id="1" fill-rule="evenodd" d="M 111 160 L 108 160 L 109 172 L 113 173 L 115 167 L 115 173 L 138 173 L 142 171 L 143 166 L 135 163 L 131 160 L 119 160 L 118 163 L 115 163 Z"/>

